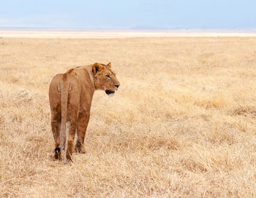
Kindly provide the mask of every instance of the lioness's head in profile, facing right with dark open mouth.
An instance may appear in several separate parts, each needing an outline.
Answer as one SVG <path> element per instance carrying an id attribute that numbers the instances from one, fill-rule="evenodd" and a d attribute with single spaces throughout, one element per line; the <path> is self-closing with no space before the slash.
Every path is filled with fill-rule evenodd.
<path id="1" fill-rule="evenodd" d="M 96 90 L 105 90 L 106 94 L 113 96 L 118 90 L 120 83 L 116 79 L 116 74 L 111 69 L 111 63 L 108 63 L 108 65 L 94 63 L 92 73 L 94 74 Z"/>

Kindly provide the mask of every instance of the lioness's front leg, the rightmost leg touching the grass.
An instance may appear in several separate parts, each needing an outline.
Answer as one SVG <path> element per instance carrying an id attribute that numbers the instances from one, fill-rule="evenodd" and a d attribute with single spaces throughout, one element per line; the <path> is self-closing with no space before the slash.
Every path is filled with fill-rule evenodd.
<path id="1" fill-rule="evenodd" d="M 90 118 L 90 113 L 83 111 L 78 115 L 78 127 L 77 127 L 77 135 L 78 139 L 75 144 L 75 151 L 81 154 L 86 153 L 86 148 L 84 147 L 84 138 L 86 136 L 86 129 L 88 126 Z"/>

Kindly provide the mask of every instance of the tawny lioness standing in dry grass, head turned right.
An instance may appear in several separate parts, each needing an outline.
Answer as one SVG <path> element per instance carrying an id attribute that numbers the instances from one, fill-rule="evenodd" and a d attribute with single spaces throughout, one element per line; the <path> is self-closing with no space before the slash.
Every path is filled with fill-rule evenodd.
<path id="1" fill-rule="evenodd" d="M 72 162 L 75 131 L 75 151 L 85 153 L 83 142 L 94 91 L 105 90 L 106 94 L 113 95 L 119 85 L 111 63 L 80 66 L 53 77 L 50 82 L 49 100 L 51 127 L 56 146 L 55 159 L 60 159 L 61 150 L 65 149 L 64 162 Z"/>

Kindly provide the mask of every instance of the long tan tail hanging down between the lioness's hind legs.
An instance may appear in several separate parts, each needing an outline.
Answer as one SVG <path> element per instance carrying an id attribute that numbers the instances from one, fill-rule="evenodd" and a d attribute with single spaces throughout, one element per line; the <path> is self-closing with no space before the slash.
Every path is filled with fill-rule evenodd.
<path id="1" fill-rule="evenodd" d="M 69 98 L 69 87 L 70 83 L 60 82 L 60 93 L 61 93 L 61 142 L 60 148 L 64 149 L 67 141 L 66 134 L 66 122 L 67 122 L 67 103 Z"/>

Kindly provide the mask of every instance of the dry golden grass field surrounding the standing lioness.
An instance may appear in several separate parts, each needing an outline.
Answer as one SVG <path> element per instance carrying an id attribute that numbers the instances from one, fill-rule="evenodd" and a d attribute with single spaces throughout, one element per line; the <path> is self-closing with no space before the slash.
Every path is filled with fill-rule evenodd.
<path id="1" fill-rule="evenodd" d="M 54 161 L 50 80 L 109 61 L 87 153 Z M 1 38 L 0 71 L 0 197 L 256 197 L 256 38 Z"/>

